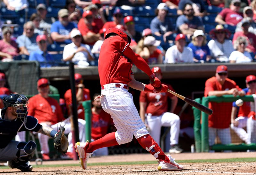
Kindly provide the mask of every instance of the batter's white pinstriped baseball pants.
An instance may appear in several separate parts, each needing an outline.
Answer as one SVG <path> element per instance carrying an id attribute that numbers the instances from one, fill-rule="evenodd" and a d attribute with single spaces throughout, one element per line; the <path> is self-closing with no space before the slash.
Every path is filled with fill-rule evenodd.
<path id="1" fill-rule="evenodd" d="M 124 84 L 116 87 L 116 83 L 105 84 L 101 90 L 101 106 L 109 113 L 116 127 L 116 141 L 124 144 L 132 141 L 133 135 L 139 138 L 149 134 L 145 124 L 133 103 L 132 94 L 124 89 Z"/>

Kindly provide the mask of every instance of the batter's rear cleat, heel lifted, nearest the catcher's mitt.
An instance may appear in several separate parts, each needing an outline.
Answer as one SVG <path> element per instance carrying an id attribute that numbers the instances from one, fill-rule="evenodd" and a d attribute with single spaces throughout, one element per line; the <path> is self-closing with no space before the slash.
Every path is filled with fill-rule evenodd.
<path id="1" fill-rule="evenodd" d="M 76 152 L 78 153 L 81 167 L 84 170 L 86 169 L 87 161 L 88 161 L 89 157 L 91 157 L 93 154 L 93 152 L 92 153 L 85 152 L 84 148 L 85 148 L 86 144 L 89 144 L 88 140 L 85 143 L 84 142 L 76 142 L 76 144 L 75 144 Z"/>

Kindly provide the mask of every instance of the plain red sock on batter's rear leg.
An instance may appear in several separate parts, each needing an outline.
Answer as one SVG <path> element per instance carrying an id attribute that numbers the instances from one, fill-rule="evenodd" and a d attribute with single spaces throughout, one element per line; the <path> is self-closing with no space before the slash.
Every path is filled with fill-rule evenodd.
<path id="1" fill-rule="evenodd" d="M 93 152 L 96 149 L 118 145 L 115 132 L 104 135 L 104 137 L 87 144 L 85 152 Z"/>

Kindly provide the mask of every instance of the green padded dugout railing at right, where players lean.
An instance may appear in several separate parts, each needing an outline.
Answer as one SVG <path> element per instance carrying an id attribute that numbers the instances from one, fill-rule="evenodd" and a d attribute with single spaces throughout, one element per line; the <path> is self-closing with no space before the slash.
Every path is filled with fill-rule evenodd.
<path id="1" fill-rule="evenodd" d="M 234 97 L 232 95 L 223 95 L 221 97 L 210 96 L 196 98 L 195 101 L 208 107 L 209 102 L 233 102 L 237 99 L 242 99 L 243 101 L 253 102 L 252 95 L 245 95 L 243 97 Z M 208 114 L 201 112 L 199 109 L 192 107 L 194 113 L 194 135 L 195 135 L 195 147 L 196 152 L 209 152 L 209 133 L 208 133 Z M 213 111 L 214 112 L 214 111 Z M 211 150 L 255 150 L 256 143 L 251 144 L 215 144 L 212 146 Z"/>

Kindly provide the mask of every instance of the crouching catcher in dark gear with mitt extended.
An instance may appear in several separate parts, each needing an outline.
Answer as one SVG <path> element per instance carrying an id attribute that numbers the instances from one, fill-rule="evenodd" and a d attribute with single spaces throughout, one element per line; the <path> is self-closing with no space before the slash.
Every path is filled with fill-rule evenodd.
<path id="1" fill-rule="evenodd" d="M 35 131 L 48 135 L 54 139 L 54 147 L 65 154 L 68 140 L 64 135 L 65 128 L 60 127 L 57 132 L 52 128 L 38 124 L 36 118 L 27 116 L 28 98 L 24 95 L 10 94 L 3 99 L 4 108 L 0 109 L 0 161 L 8 161 L 8 166 L 21 171 L 31 171 L 33 167 L 29 160 L 34 156 L 36 143 L 17 142 L 12 140 L 18 132 Z"/>

